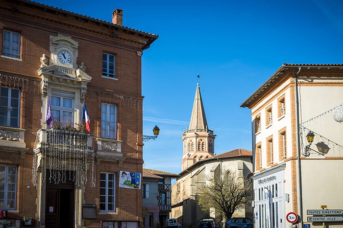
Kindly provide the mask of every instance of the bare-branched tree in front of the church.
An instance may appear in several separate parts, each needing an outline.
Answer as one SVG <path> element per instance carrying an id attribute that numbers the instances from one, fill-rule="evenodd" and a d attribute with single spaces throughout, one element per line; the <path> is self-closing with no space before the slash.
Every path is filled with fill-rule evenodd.
<path id="1" fill-rule="evenodd" d="M 203 211 L 215 208 L 226 219 L 251 202 L 252 182 L 237 173 L 221 171 L 214 177 L 206 178 L 207 184 L 200 188 L 199 201 Z"/>

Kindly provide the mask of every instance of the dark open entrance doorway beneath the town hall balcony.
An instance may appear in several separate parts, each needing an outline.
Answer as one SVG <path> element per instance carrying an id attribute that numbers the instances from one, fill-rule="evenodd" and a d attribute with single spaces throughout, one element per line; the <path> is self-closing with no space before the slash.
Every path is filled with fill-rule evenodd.
<path id="1" fill-rule="evenodd" d="M 50 183 L 47 170 L 46 189 L 46 228 L 73 228 L 74 227 L 74 182 L 66 174 L 65 183 Z M 68 172 L 68 171 L 67 171 Z M 73 175 L 71 175 L 73 176 Z"/>

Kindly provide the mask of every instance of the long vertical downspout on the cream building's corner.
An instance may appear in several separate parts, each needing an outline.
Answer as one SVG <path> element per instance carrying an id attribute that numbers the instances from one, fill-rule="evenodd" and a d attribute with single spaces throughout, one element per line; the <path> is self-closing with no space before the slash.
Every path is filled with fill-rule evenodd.
<path id="1" fill-rule="evenodd" d="M 301 67 L 299 67 L 298 72 L 295 74 L 295 114 L 296 114 L 296 145 L 297 145 L 297 160 L 298 160 L 298 189 L 299 189 L 299 214 L 300 214 L 300 228 L 303 227 L 303 210 L 302 210 L 302 179 L 301 179 L 301 160 L 300 160 L 300 136 L 299 136 L 299 98 L 298 98 L 298 84 L 297 75 L 300 73 Z"/>

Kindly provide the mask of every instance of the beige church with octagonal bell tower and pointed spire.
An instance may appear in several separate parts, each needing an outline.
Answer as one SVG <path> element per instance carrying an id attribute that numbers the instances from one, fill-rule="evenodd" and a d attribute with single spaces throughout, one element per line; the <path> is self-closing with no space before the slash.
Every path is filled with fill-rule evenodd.
<path id="1" fill-rule="evenodd" d="M 208 182 L 208 177 L 220 172 L 237 172 L 238 175 L 247 177 L 252 173 L 252 152 L 236 149 L 220 155 L 214 153 L 213 130 L 207 127 L 207 120 L 200 95 L 199 85 L 189 129 L 183 134 L 182 172 L 172 186 L 172 212 L 170 218 L 176 218 L 183 228 L 194 228 L 196 224 L 207 218 L 215 220 L 219 225 L 221 215 L 213 209 L 204 212 L 197 204 L 199 187 Z M 236 217 L 251 217 L 250 205 L 236 211 Z M 222 224 L 221 224 L 222 225 Z"/>

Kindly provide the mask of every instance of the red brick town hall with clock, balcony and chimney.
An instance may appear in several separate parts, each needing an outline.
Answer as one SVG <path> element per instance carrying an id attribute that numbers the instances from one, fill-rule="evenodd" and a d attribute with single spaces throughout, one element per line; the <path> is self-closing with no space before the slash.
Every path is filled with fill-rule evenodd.
<path id="1" fill-rule="evenodd" d="M 142 191 L 119 186 L 142 174 L 141 57 L 158 36 L 122 22 L 120 9 L 109 23 L 0 1 L 0 210 L 8 221 L 142 227 Z M 76 124 L 84 103 L 90 132 Z"/>

